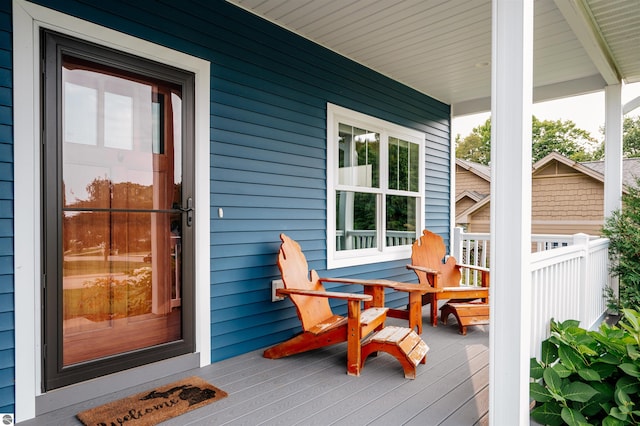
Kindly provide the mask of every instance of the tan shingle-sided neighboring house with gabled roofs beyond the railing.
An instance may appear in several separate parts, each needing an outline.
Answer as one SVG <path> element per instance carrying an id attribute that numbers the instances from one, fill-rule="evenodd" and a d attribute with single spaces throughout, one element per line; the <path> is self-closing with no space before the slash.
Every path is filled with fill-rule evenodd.
<path id="1" fill-rule="evenodd" d="M 532 167 L 533 234 L 600 235 L 604 223 L 604 161 L 578 163 L 551 153 Z M 640 159 L 623 161 L 624 188 L 640 176 Z M 456 224 L 489 232 L 490 167 L 456 159 Z M 626 189 L 623 189 L 626 192 Z"/>

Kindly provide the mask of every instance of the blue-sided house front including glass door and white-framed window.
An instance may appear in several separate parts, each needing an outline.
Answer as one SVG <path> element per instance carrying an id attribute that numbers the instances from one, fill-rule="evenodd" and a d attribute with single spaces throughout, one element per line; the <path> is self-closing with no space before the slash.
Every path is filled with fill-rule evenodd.
<path id="1" fill-rule="evenodd" d="M 353 248 L 365 227 L 386 241 L 376 206 L 389 232 L 449 238 L 449 105 L 226 1 L 107 3 L 0 3 L 0 413 L 18 419 L 291 337 L 282 232 L 321 275 L 406 281 L 410 245 Z"/>

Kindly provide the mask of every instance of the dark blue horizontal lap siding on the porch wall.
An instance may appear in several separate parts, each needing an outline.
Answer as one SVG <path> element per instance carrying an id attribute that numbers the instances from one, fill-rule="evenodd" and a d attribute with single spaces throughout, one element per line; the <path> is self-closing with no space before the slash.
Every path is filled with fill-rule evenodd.
<path id="1" fill-rule="evenodd" d="M 11 12 L 6 3 L 0 22 L 0 351 L 12 353 L 13 164 L 11 96 L 5 96 L 11 90 Z M 414 281 L 406 261 L 325 270 L 327 102 L 424 132 L 425 226 L 448 238 L 448 105 L 221 0 L 34 3 L 211 62 L 213 361 L 299 330 L 290 302 L 271 302 L 281 232 L 301 243 L 310 267 L 321 275 Z M 398 294 L 388 300 L 406 303 Z M 340 305 L 336 309 L 344 311 Z M 3 358 L 3 389 L 11 389 L 11 370 Z M 3 406 L 11 412 L 11 392 L 0 392 L 0 412 Z"/>

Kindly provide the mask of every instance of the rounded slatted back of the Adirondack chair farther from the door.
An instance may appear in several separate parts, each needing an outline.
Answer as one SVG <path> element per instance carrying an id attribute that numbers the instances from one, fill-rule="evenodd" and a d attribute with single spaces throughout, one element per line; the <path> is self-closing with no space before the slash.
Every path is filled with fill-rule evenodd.
<path id="1" fill-rule="evenodd" d="M 438 287 L 456 287 L 460 285 L 460 268 L 456 266 L 456 259 L 450 256 L 443 262 L 446 255 L 444 240 L 438 234 L 425 229 L 422 236 L 414 243 L 411 251 L 411 263 L 429 269 L 440 271 Z M 421 284 L 434 285 L 427 279 L 427 274 L 415 271 Z"/>

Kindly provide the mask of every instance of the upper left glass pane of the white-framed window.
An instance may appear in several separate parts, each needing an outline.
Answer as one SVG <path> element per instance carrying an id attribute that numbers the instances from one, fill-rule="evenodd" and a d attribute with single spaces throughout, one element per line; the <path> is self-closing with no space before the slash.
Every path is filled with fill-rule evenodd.
<path id="1" fill-rule="evenodd" d="M 338 183 L 380 187 L 380 134 L 340 123 Z"/>

